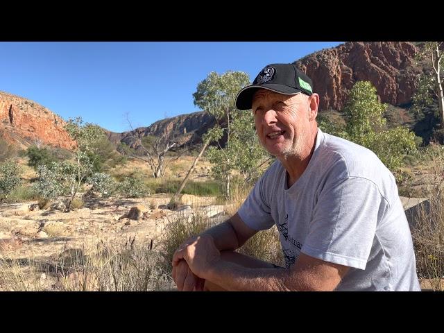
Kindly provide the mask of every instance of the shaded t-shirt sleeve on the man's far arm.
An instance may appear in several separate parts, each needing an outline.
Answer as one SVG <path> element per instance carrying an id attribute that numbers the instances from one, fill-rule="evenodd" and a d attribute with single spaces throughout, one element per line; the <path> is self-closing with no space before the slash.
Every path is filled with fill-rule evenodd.
<path id="1" fill-rule="evenodd" d="M 264 174 L 257 181 L 244 204 L 237 212 L 242 221 L 254 230 L 266 230 L 275 224 L 271 216 L 270 203 L 268 202 L 271 186 L 270 181 L 266 179 L 266 174 Z M 264 191 L 267 185 L 268 193 Z"/>

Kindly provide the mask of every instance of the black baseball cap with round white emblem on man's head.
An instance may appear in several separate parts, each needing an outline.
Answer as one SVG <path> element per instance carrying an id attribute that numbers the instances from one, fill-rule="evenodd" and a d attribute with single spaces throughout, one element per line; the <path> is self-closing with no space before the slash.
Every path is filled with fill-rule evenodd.
<path id="1" fill-rule="evenodd" d="M 268 89 L 280 94 L 293 95 L 302 92 L 313 94 L 313 83 L 305 73 L 293 64 L 271 64 L 257 74 L 253 85 L 242 89 L 236 97 L 236 108 L 248 110 L 251 108 L 253 94 L 257 89 Z"/>

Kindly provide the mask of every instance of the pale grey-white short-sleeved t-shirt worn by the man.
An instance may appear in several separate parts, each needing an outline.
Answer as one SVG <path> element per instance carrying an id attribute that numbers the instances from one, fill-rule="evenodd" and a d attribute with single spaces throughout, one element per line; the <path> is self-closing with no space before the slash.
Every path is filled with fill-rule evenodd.
<path id="1" fill-rule="evenodd" d="M 255 230 L 277 226 L 287 268 L 301 252 L 349 266 L 336 290 L 420 291 L 395 178 L 367 148 L 318 129 L 302 176 L 287 188 L 277 160 L 239 216 Z"/>

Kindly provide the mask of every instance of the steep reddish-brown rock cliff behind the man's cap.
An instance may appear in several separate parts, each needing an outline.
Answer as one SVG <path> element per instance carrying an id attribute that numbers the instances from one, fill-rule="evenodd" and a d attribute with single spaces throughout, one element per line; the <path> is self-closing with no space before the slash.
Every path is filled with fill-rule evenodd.
<path id="1" fill-rule="evenodd" d="M 359 80 L 370 81 L 384 103 L 411 101 L 416 76 L 416 47 L 409 42 L 347 42 L 293 62 L 313 80 L 321 110 L 341 110 Z"/>

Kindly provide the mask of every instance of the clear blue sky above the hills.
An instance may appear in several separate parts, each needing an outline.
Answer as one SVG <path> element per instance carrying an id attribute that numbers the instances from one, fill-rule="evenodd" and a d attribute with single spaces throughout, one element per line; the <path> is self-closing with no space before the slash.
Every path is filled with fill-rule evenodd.
<path id="1" fill-rule="evenodd" d="M 199 111 L 210 71 L 253 80 L 273 62 L 293 62 L 342 42 L 0 42 L 0 91 L 31 99 L 64 119 L 114 132 Z"/>

